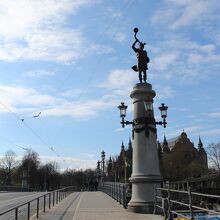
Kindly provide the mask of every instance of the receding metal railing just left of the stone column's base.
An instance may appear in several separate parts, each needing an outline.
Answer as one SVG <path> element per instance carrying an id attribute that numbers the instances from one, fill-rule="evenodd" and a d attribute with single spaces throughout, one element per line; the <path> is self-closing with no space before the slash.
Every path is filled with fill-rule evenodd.
<path id="1" fill-rule="evenodd" d="M 99 190 L 108 194 L 117 202 L 123 205 L 124 208 L 127 208 L 128 200 L 128 184 L 125 183 L 116 183 L 116 182 L 101 182 L 99 184 Z"/>

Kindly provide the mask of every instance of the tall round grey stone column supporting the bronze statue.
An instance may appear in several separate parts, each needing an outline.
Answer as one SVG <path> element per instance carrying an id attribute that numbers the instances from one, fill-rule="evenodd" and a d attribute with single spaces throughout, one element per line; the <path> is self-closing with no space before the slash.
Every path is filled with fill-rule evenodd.
<path id="1" fill-rule="evenodd" d="M 151 84 L 138 83 L 134 86 L 130 96 L 134 105 L 134 129 L 136 131 L 134 131 L 132 143 L 133 171 L 130 178 L 132 197 L 128 210 L 150 214 L 154 209 L 154 184 L 160 186 L 162 181 L 157 152 L 156 125 L 147 123 L 146 127 L 146 122 L 138 119 L 150 118 L 154 121 L 153 110 L 147 115 L 144 102 L 153 102 L 156 93 L 152 90 Z M 146 129 L 143 130 L 143 128 Z"/>

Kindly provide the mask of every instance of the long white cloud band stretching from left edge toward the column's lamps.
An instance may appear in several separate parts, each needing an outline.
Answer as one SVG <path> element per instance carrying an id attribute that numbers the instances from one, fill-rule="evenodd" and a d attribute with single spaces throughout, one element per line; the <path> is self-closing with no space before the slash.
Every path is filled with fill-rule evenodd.
<path id="1" fill-rule="evenodd" d="M 68 97 L 69 98 L 69 97 Z M 103 111 L 115 107 L 119 100 L 111 96 L 98 99 L 84 99 L 75 101 L 58 94 L 54 96 L 41 94 L 32 88 L 0 85 L 0 112 L 28 113 L 42 111 L 44 116 L 70 116 L 73 118 L 95 117 Z M 10 110 L 9 110 L 10 109 Z"/>

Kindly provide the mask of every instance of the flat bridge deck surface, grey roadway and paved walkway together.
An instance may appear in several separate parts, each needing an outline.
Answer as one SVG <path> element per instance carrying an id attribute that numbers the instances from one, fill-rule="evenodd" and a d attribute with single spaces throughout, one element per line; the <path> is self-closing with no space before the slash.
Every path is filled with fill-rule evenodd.
<path id="1" fill-rule="evenodd" d="M 27 201 L 31 201 L 30 204 Z M 26 203 L 22 207 L 21 204 L 24 202 Z M 3 211 L 7 211 L 6 209 L 9 212 L 4 214 Z M 159 215 L 128 212 L 122 204 L 101 191 L 71 192 L 66 195 L 62 194 L 62 191 L 56 191 L 51 194 L 0 193 L 0 220 L 5 219 L 162 220 L 164 218 Z"/>

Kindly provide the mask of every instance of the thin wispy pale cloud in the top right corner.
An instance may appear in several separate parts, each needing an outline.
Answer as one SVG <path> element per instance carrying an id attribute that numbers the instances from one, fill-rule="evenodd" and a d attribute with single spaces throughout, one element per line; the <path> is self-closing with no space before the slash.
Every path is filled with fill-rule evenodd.
<path id="1" fill-rule="evenodd" d="M 166 0 L 152 18 L 154 23 L 166 24 L 170 29 L 188 25 L 210 25 L 218 16 L 218 0 Z"/>

